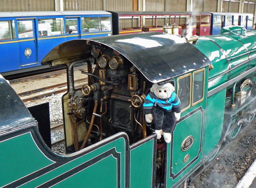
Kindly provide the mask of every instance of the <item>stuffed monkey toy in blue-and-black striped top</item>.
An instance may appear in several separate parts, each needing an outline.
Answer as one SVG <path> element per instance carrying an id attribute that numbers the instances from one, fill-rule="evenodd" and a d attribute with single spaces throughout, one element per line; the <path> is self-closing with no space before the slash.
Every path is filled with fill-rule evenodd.
<path id="1" fill-rule="evenodd" d="M 171 142 L 171 133 L 180 119 L 180 99 L 174 91 L 171 83 L 153 84 L 143 104 L 146 121 L 153 120 L 157 139 L 163 135 L 166 143 Z"/>

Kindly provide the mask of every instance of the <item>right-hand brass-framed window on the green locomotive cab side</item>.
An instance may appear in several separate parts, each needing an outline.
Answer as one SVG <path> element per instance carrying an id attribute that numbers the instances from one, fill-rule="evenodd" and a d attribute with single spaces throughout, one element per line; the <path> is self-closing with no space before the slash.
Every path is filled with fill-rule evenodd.
<path id="1" fill-rule="evenodd" d="M 204 100 L 205 69 L 193 73 L 192 106 Z"/>

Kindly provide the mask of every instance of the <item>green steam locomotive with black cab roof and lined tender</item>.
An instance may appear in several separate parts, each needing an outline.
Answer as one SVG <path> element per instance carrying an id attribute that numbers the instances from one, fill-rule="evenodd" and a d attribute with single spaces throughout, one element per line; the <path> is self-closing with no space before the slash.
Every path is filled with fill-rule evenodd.
<path id="1" fill-rule="evenodd" d="M 75 88 L 73 66 L 84 62 L 88 84 Z M 67 67 L 67 155 L 47 147 L 1 77 L 0 187 L 192 187 L 256 114 L 256 32 L 241 26 L 199 38 L 146 32 L 71 40 L 42 64 Z M 171 83 L 181 101 L 170 143 L 145 121 L 155 83 Z"/>

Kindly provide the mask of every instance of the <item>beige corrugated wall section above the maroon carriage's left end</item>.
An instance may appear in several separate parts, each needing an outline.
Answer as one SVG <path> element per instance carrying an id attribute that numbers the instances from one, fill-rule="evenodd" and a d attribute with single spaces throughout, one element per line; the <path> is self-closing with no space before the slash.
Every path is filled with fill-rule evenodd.
<path id="1" fill-rule="evenodd" d="M 105 0 L 108 11 L 133 11 L 133 0 Z"/>

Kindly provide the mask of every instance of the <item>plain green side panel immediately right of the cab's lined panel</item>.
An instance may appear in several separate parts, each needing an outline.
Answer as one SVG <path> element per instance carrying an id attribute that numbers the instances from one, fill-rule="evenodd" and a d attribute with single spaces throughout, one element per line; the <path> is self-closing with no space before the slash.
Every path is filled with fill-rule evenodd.
<path id="1" fill-rule="evenodd" d="M 207 101 L 204 155 L 217 146 L 223 129 L 226 88 L 210 96 Z"/>

